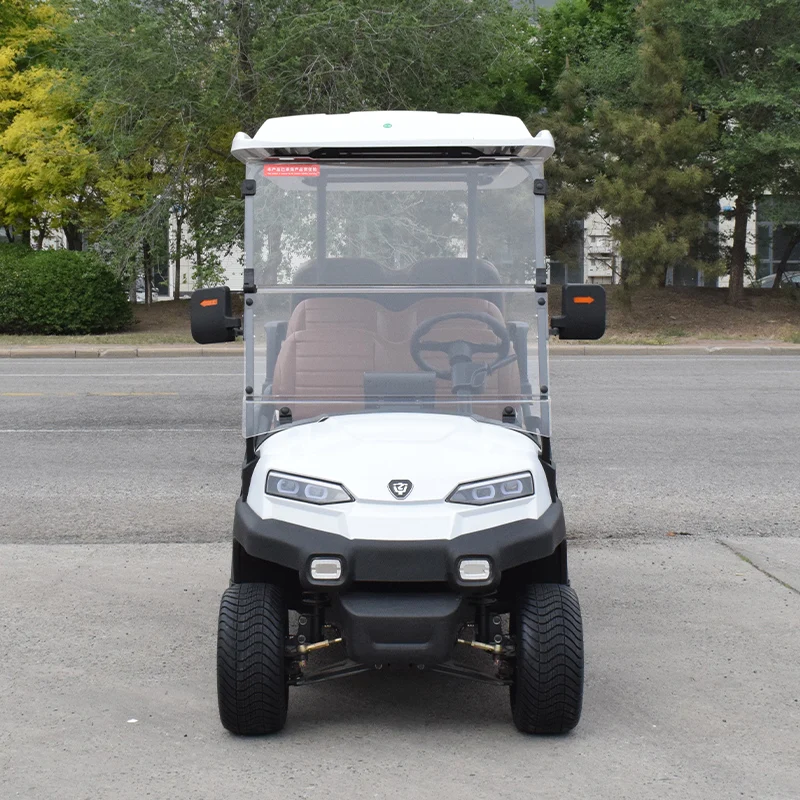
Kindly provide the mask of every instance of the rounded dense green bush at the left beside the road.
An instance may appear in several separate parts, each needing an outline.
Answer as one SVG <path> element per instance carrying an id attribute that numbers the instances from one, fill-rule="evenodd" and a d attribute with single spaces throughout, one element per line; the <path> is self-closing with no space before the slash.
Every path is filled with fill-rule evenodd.
<path id="1" fill-rule="evenodd" d="M 110 333 L 132 322 L 125 287 L 95 253 L 0 245 L 0 333 Z"/>

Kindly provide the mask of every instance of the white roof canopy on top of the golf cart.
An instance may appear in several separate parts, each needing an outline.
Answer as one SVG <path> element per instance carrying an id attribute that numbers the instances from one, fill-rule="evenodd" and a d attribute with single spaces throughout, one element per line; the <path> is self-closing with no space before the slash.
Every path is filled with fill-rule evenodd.
<path id="1" fill-rule="evenodd" d="M 354 111 L 268 119 L 255 136 L 237 133 L 231 153 L 240 161 L 307 156 L 321 148 L 469 147 L 486 155 L 542 161 L 555 150 L 549 131 L 531 136 L 517 117 L 435 111 Z"/>

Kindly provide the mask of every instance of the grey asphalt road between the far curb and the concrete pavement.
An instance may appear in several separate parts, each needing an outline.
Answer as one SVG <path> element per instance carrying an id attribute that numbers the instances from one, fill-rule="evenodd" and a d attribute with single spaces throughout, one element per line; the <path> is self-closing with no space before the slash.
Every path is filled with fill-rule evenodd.
<path id="1" fill-rule="evenodd" d="M 574 538 L 794 536 L 800 362 L 557 357 Z M 228 537 L 243 455 L 232 358 L 0 360 L 0 542 Z"/>

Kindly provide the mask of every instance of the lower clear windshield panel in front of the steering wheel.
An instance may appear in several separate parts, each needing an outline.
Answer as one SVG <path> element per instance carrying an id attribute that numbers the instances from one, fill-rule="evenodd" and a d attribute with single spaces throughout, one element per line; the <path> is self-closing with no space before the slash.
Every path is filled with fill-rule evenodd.
<path id="1" fill-rule="evenodd" d="M 250 299 L 246 436 L 289 419 L 370 411 L 508 422 L 509 408 L 520 426 L 549 433 L 530 289 L 297 287 Z"/>

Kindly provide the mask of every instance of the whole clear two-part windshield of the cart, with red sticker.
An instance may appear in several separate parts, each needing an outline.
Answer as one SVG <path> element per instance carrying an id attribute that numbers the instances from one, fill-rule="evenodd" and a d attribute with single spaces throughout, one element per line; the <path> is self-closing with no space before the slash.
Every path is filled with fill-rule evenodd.
<path id="1" fill-rule="evenodd" d="M 365 411 L 544 432 L 530 165 L 283 161 L 248 177 L 245 435 Z"/>

